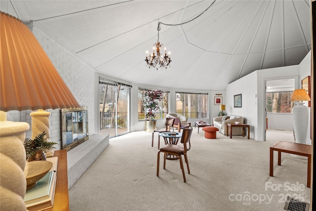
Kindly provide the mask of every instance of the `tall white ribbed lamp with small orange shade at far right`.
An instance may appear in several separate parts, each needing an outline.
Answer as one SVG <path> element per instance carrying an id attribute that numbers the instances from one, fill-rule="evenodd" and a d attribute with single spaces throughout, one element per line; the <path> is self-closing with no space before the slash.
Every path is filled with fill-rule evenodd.
<path id="1" fill-rule="evenodd" d="M 291 101 L 310 101 L 311 98 L 307 91 L 302 89 L 295 89 Z M 297 102 L 292 110 L 293 128 L 295 143 L 306 144 L 306 135 L 308 127 L 308 108 L 304 105 L 304 102 Z"/>

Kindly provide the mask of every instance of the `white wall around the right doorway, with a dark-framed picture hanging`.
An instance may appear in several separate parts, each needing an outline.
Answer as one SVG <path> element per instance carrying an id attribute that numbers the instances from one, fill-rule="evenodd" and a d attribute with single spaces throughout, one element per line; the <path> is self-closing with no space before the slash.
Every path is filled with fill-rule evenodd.
<path id="1" fill-rule="evenodd" d="M 293 65 L 257 70 L 228 84 L 226 88 L 228 114 L 245 117 L 246 123 L 250 125 L 250 137 L 258 141 L 265 140 L 265 82 L 277 79 L 295 79 L 295 88 L 298 88 L 299 75 L 299 65 Z M 242 108 L 234 108 L 234 95 L 236 94 L 242 94 Z"/>

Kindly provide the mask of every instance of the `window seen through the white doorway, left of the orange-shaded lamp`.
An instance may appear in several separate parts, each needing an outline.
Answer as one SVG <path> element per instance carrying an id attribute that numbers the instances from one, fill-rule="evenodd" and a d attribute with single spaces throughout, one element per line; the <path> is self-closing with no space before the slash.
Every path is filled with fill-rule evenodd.
<path id="1" fill-rule="evenodd" d="M 292 91 L 267 93 L 268 113 L 292 113 L 294 102 L 290 101 Z"/>

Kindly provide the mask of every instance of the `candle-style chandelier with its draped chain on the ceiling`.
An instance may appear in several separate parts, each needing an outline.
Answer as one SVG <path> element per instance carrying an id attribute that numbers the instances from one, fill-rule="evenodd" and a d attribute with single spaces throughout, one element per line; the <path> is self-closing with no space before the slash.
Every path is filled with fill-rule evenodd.
<path id="1" fill-rule="evenodd" d="M 186 22 L 179 23 L 179 24 L 166 24 L 166 23 L 158 22 L 158 27 L 157 27 L 158 39 L 157 39 L 157 42 L 154 44 L 153 54 L 148 55 L 148 51 L 146 51 L 146 59 L 145 59 L 146 67 L 149 67 L 149 69 L 151 67 L 153 67 L 153 68 L 156 68 L 157 70 L 159 67 L 161 69 L 162 68 L 167 69 L 168 66 L 170 67 L 170 62 L 171 62 L 170 52 L 168 52 L 168 55 L 167 55 L 166 48 L 164 48 L 164 55 L 163 55 L 163 53 L 160 54 L 160 48 L 163 46 L 163 44 L 159 42 L 159 31 L 161 29 L 161 24 L 167 25 L 167 26 L 179 26 L 179 25 L 182 25 L 185 23 L 189 23 L 189 22 L 193 21 L 194 19 L 196 19 L 197 17 L 199 17 L 201 14 L 203 14 L 206 10 L 208 10 L 215 3 L 215 1 L 216 0 L 214 0 L 211 3 L 211 5 L 209 5 L 209 7 L 207 7 L 203 12 L 201 12 L 195 18 L 188 20 Z M 155 55 L 155 48 L 156 48 L 156 55 Z"/>

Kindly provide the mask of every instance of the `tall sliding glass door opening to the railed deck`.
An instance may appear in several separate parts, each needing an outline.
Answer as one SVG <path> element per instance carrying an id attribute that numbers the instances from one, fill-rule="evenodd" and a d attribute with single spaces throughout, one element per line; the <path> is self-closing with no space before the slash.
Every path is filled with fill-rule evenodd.
<path id="1" fill-rule="evenodd" d="M 100 133 L 115 137 L 129 132 L 130 87 L 100 80 Z"/>

